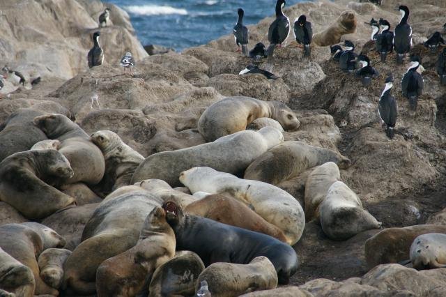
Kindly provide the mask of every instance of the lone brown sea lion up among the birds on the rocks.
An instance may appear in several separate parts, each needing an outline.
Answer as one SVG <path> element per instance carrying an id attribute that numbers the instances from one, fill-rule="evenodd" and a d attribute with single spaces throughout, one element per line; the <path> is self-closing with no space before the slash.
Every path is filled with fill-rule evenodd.
<path id="1" fill-rule="evenodd" d="M 313 35 L 312 43 L 320 47 L 334 45 L 341 42 L 341 37 L 345 34 L 356 31 L 356 15 L 353 10 L 341 13 L 337 20 L 330 24 L 327 29 Z"/>

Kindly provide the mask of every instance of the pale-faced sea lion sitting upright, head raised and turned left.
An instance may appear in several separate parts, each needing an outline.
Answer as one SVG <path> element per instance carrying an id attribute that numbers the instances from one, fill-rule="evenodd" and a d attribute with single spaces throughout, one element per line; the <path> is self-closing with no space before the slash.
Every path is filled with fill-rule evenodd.
<path id="1" fill-rule="evenodd" d="M 101 130 L 94 132 L 90 139 L 104 154 L 103 190 L 108 194 L 123 185 L 130 185 L 134 170 L 144 161 L 144 157 L 125 144 L 115 132 Z"/>

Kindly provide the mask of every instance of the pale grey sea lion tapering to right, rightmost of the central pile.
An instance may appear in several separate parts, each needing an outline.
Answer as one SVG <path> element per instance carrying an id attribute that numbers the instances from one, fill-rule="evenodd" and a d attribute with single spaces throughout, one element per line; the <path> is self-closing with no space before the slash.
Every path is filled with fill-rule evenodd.
<path id="1" fill-rule="evenodd" d="M 341 182 L 335 181 L 327 196 L 319 205 L 323 232 L 333 240 L 346 240 L 370 229 L 380 229 L 373 215 L 362 207 L 355 192 Z"/>

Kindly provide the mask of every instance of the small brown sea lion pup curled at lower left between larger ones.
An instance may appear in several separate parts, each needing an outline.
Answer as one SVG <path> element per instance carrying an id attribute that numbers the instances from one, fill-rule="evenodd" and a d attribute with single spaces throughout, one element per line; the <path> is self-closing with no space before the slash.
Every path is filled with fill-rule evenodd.
<path id="1" fill-rule="evenodd" d="M 63 264 L 71 251 L 63 248 L 49 248 L 38 257 L 40 277 L 54 289 L 59 289 L 63 280 Z"/>

